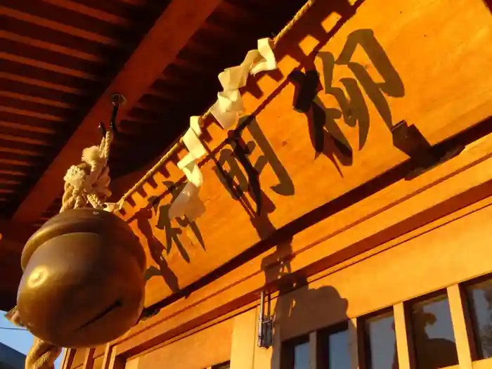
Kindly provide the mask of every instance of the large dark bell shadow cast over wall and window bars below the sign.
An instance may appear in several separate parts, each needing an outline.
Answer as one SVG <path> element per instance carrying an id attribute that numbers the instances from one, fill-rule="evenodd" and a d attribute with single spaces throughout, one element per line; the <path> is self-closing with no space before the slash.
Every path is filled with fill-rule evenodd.
<path id="1" fill-rule="evenodd" d="M 317 368 L 328 368 L 334 359 L 350 368 L 349 329 L 353 327 L 347 316 L 347 299 L 330 285 L 309 288 L 303 273 L 292 273 L 291 257 L 290 242 L 285 242 L 262 262 L 267 288 L 276 286 L 279 291 L 273 315 L 267 312 L 273 320 L 271 368 L 309 368 L 313 354 L 309 352 L 313 349 L 309 333 L 313 331 L 318 331 Z M 339 323 L 332 324 L 332 316 L 337 316 Z M 330 347 L 335 336 L 347 350 Z"/>

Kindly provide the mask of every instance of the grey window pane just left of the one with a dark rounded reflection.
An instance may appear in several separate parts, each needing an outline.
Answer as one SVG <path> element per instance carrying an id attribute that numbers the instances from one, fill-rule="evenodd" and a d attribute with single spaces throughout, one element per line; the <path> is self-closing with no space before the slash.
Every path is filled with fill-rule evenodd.
<path id="1" fill-rule="evenodd" d="M 365 321 L 367 362 L 370 369 L 398 369 L 393 312 Z"/>

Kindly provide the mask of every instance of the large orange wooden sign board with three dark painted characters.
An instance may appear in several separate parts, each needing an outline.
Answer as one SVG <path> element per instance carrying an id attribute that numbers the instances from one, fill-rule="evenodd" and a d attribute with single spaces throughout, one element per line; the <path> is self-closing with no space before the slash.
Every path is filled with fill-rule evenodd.
<path id="1" fill-rule="evenodd" d="M 492 115 L 492 16 L 481 0 L 331 3 L 280 42 L 278 71 L 248 84 L 238 128 L 205 129 L 205 214 L 167 216 L 185 184 L 184 149 L 125 203 L 120 215 L 148 254 L 147 306 L 408 160 L 391 132 L 402 120 L 422 149 Z"/>

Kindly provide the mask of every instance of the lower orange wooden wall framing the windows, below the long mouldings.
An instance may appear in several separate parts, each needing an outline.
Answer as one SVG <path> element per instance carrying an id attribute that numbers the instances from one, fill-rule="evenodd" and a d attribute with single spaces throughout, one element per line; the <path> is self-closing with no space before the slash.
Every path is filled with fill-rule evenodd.
<path id="1" fill-rule="evenodd" d="M 303 335 L 315 339 L 319 330 L 344 322 L 348 322 L 349 330 L 357 330 L 367 314 L 393 309 L 397 339 L 403 342 L 403 348 L 399 344 L 398 349 L 400 368 L 415 369 L 410 360 L 413 355 L 410 343 L 406 341 L 406 330 L 410 326 L 402 326 L 405 322 L 401 315 L 405 311 L 403 305 L 415 297 L 441 290 L 447 293 L 451 306 L 460 366 L 466 367 L 468 363 L 467 368 L 472 368 L 470 365 L 488 368 L 492 359 L 473 357 L 470 319 L 460 289 L 466 281 L 492 272 L 492 260 L 487 257 L 491 231 L 490 227 L 484 227 L 491 221 L 492 198 L 486 198 L 406 238 L 365 252 L 344 268 L 318 273 L 309 278 L 307 285 L 292 292 L 273 294 L 271 313 L 275 323 L 273 347 L 269 349 L 257 347 L 259 308 L 255 302 L 245 311 L 239 309 L 232 316 L 221 316 L 218 321 L 124 358 L 120 365 L 132 369 L 203 369 L 231 361 L 232 369 L 277 369 L 283 342 Z M 492 275 L 488 278 L 492 279 Z M 164 327 L 165 323 L 161 323 L 160 328 Z M 355 345 L 363 344 L 353 335 Z M 118 345 L 114 350 L 119 351 Z M 358 352 L 353 350 L 353 360 L 358 360 Z M 115 356 L 107 361 L 115 363 Z M 99 368 L 86 363 L 87 359 L 82 363 L 83 368 Z"/>

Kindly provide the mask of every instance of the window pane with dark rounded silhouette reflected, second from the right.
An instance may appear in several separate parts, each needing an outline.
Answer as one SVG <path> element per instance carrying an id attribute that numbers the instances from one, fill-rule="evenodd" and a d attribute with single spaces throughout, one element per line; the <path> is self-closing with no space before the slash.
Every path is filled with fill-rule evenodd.
<path id="1" fill-rule="evenodd" d="M 446 294 L 414 303 L 412 328 L 418 369 L 436 369 L 458 364 Z"/>

